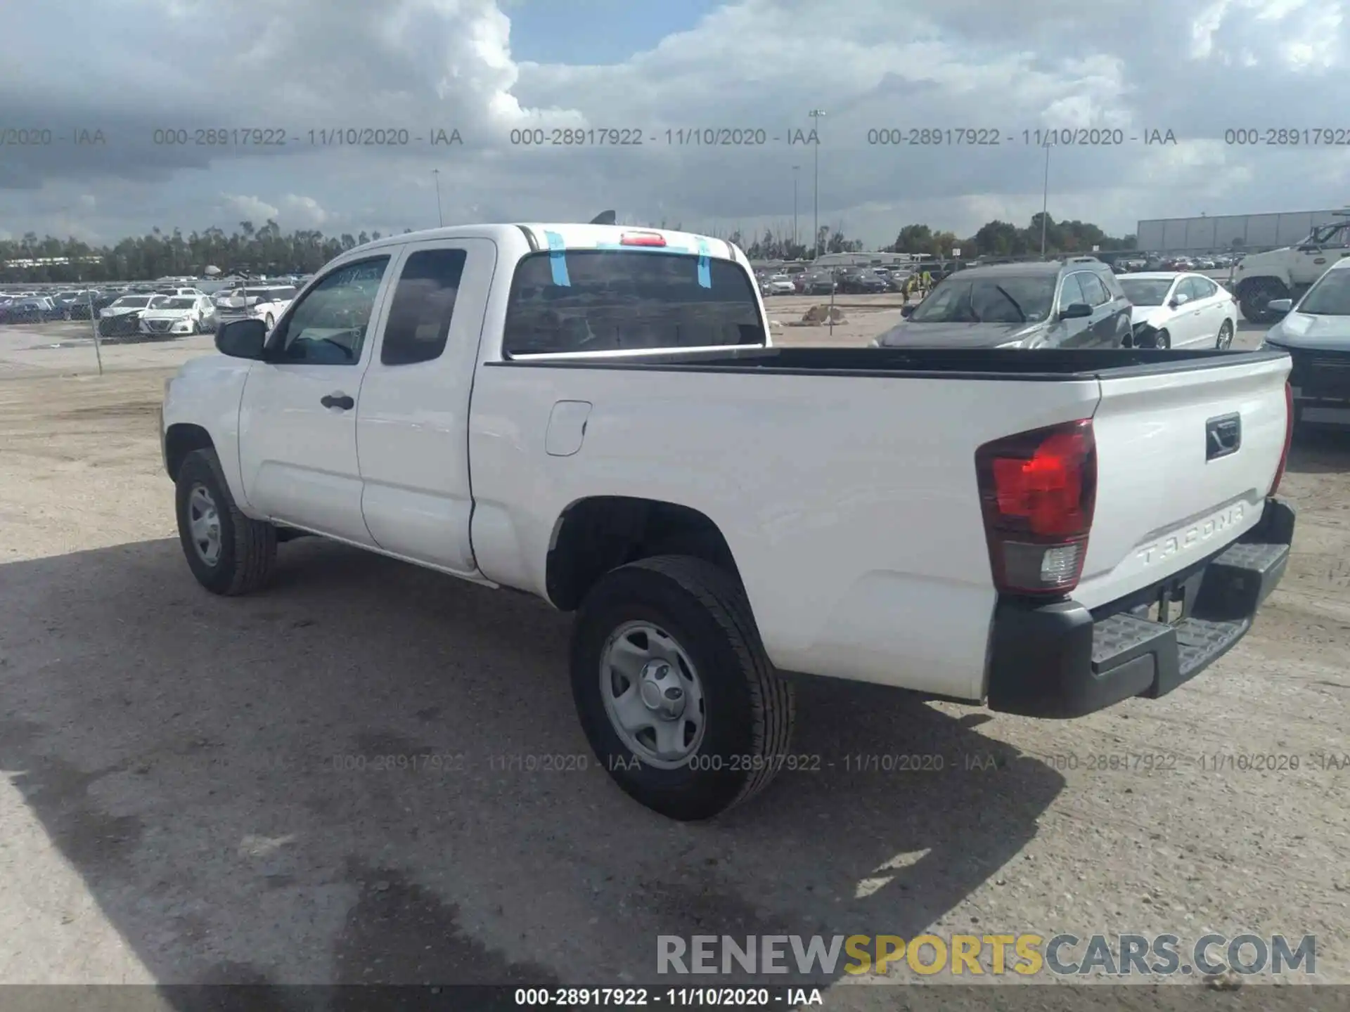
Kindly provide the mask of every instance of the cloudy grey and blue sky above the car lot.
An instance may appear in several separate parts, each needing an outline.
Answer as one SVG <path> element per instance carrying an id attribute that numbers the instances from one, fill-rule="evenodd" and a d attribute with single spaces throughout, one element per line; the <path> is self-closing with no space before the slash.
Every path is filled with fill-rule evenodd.
<path id="1" fill-rule="evenodd" d="M 725 233 L 791 228 L 795 179 L 803 240 L 818 182 L 819 223 L 879 244 L 914 221 L 1025 223 L 1038 130 L 1123 142 L 1049 155 L 1050 215 L 1116 235 L 1339 206 L 1346 1 L 14 0 L 0 237 L 605 208 Z M 555 146 L 568 128 L 585 143 Z M 923 128 L 942 143 L 869 143 Z M 1304 143 L 1266 144 L 1278 130 Z M 741 143 L 703 146 L 710 131 Z"/>

